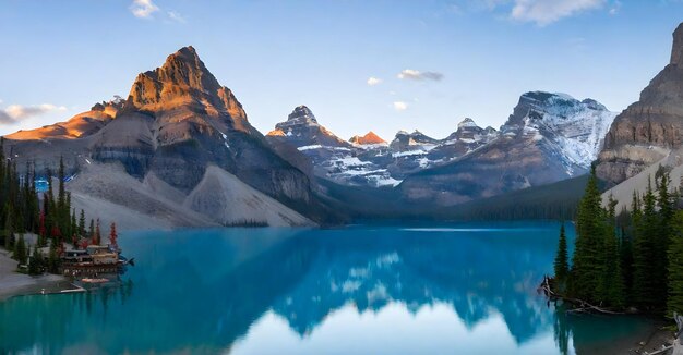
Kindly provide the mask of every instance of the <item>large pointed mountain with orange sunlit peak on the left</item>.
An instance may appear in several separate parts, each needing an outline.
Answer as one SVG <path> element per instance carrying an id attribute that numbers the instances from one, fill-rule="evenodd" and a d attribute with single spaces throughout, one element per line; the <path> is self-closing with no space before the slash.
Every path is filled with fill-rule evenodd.
<path id="1" fill-rule="evenodd" d="M 232 180 L 239 179 L 256 191 L 215 195 L 239 196 L 235 204 L 248 204 L 244 196 L 250 196 L 253 207 L 264 199 L 259 194 L 265 194 L 278 204 L 296 206 L 303 215 L 320 209 L 312 207 L 315 201 L 307 174 L 268 146 L 249 123 L 232 91 L 218 83 L 192 47 L 170 54 L 160 68 L 139 74 L 125 101 L 98 103 L 67 123 L 19 132 L 8 138 L 21 167 L 31 161 L 37 171 L 53 169 L 59 156 L 64 157 L 73 173 L 84 164 L 101 166 L 95 162 L 121 164 L 125 173 L 140 181 L 154 181 L 172 188 L 176 195 L 192 196 L 190 207 L 207 204 L 197 196 L 211 194 L 205 187 L 201 194 L 196 188 L 207 181 L 207 169 L 212 168 L 212 184 L 203 186 L 238 186 Z M 225 174 L 215 173 L 215 169 Z M 147 179 L 151 175 L 155 179 Z M 249 211 L 275 208 L 274 201 L 256 209 L 242 208 L 245 212 L 240 218 L 247 219 Z M 283 211 L 287 207 L 276 209 L 277 216 L 295 216 Z M 227 209 L 223 217 L 215 211 L 200 212 L 221 224 L 231 223 L 235 217 Z M 262 213 L 248 222 L 302 221 L 274 217 L 260 220 L 264 216 L 275 215 Z"/>

